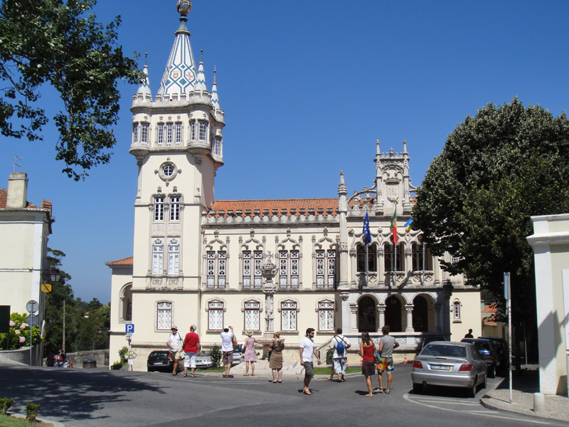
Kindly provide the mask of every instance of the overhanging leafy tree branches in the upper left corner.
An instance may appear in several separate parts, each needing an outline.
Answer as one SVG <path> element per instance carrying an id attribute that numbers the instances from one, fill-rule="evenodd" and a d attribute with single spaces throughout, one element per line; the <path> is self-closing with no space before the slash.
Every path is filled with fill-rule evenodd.
<path id="1" fill-rule="evenodd" d="M 53 116 L 55 159 L 76 181 L 109 162 L 118 120 L 117 82 L 139 83 L 135 60 L 117 45 L 120 17 L 107 26 L 87 12 L 96 0 L 4 0 L 0 3 L 0 132 L 42 139 L 48 122 L 39 106 L 51 85 L 63 101 Z"/>

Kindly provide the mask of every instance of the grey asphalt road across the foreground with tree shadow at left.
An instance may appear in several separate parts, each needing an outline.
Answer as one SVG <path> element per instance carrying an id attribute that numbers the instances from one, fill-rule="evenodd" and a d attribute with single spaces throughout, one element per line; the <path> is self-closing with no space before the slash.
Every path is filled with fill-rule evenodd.
<path id="1" fill-rule="evenodd" d="M 459 389 L 413 394 L 410 364 L 395 365 L 390 394 L 367 393 L 363 376 L 346 382 L 314 379 L 312 396 L 302 380 L 282 384 L 253 376 L 198 375 L 0 366 L 0 397 L 41 404 L 39 418 L 65 426 L 567 426 L 491 411 Z M 489 379 L 489 387 L 499 378 Z M 377 378 L 374 379 L 377 386 Z"/>

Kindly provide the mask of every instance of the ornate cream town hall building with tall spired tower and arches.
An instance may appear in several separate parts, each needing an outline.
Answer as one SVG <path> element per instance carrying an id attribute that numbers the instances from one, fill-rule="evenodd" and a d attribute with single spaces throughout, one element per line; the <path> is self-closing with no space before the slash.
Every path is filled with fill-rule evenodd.
<path id="1" fill-rule="evenodd" d="M 377 339 L 388 324 L 400 357 L 411 357 L 428 334 L 457 340 L 469 328 L 479 334 L 479 290 L 443 272 L 422 246 L 420 231 L 405 233 L 401 226 L 410 218 L 414 190 L 405 142 L 403 152 L 382 153 L 376 144 L 373 185 L 352 196 L 342 173 L 334 199 L 215 200 L 224 112 L 215 75 L 208 90 L 203 63 L 193 59 L 181 12 L 154 100 L 148 80 L 133 97 L 130 152 L 139 166 L 134 256 L 107 263 L 111 358 L 127 344 L 127 323 L 135 325 L 139 370 L 151 350 L 166 348 L 171 325 L 183 333 L 198 325 L 205 347 L 220 343 L 224 325 L 234 327 L 240 342 L 248 329 L 256 337 L 280 330 L 294 359 L 308 327 L 324 344 L 336 327 L 357 342 L 363 331 Z M 267 286 L 262 268 L 270 260 L 275 278 Z"/>

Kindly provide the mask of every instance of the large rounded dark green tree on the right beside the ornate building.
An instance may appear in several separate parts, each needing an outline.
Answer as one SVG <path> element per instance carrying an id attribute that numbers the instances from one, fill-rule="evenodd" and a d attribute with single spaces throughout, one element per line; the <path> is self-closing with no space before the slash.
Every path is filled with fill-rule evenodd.
<path id="1" fill-rule="evenodd" d="M 510 272 L 521 318 L 536 310 L 531 216 L 568 211 L 569 121 L 514 97 L 486 105 L 449 135 L 418 188 L 413 226 L 433 254 L 454 257 L 445 270 L 491 292 L 502 309 Z"/>

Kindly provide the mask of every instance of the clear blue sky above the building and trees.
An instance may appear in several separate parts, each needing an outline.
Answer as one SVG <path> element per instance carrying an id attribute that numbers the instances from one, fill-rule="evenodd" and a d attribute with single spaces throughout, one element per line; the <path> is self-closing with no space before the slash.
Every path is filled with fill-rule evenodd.
<path id="1" fill-rule="evenodd" d="M 134 6 L 135 5 L 135 6 Z M 99 0 L 101 22 L 122 17 L 124 53 L 149 53 L 159 88 L 176 0 Z M 382 152 L 407 139 L 415 186 L 447 135 L 488 102 L 514 95 L 560 115 L 569 104 L 568 1 L 195 0 L 188 16 L 206 82 L 217 68 L 225 110 L 225 166 L 216 199 L 335 197 L 344 170 L 351 194 L 371 186 Z M 44 142 L 0 137 L 0 187 L 22 158 L 28 201 L 53 201 L 49 246 L 67 254 L 75 296 L 110 300 L 105 263 L 132 255 L 137 167 L 128 153 L 131 97 L 121 83 L 118 143 L 110 164 L 75 182 Z M 46 90 L 43 102 L 59 102 Z"/>

